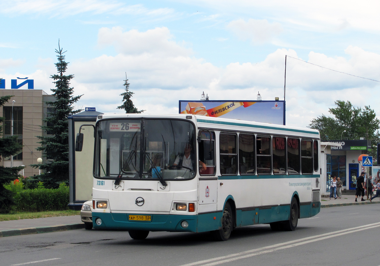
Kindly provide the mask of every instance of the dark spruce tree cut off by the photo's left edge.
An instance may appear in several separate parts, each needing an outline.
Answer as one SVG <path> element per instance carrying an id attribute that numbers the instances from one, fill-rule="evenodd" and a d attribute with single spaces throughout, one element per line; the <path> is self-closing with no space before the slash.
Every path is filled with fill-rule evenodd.
<path id="1" fill-rule="evenodd" d="M 0 79 L 1 82 L 1 79 Z M 0 107 L 3 106 L 5 102 L 8 102 L 13 96 L 3 96 L 0 97 Z M 0 134 L 3 133 L 2 123 L 5 118 L 0 117 Z M 4 157 L 13 156 L 17 154 L 21 149 L 22 145 L 17 143 L 17 135 L 11 137 L 0 138 L 0 160 Z M 13 192 L 4 188 L 4 184 L 7 184 L 14 179 L 19 177 L 19 171 L 22 170 L 22 166 L 18 167 L 3 167 L 0 166 L 0 213 L 9 212 L 11 205 L 13 204 Z"/>

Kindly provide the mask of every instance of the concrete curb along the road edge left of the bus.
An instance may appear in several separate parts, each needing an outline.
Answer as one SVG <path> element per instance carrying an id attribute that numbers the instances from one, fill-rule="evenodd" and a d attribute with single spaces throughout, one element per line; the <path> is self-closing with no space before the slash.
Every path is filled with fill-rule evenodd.
<path id="1" fill-rule="evenodd" d="M 84 223 L 12 229 L 12 230 L 0 231 L 0 238 L 5 237 L 5 236 L 21 236 L 21 235 L 51 233 L 51 232 L 75 230 L 75 229 L 82 229 L 82 228 L 84 228 Z"/>

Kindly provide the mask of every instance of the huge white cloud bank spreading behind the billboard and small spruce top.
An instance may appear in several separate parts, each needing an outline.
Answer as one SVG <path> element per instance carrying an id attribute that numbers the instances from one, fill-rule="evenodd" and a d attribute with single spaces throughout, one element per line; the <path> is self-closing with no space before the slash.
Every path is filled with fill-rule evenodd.
<path id="1" fill-rule="evenodd" d="M 217 68 L 192 50 L 173 41 L 170 31 L 155 28 L 140 32 L 121 28 L 102 28 L 99 45 L 115 47 L 116 56 L 102 55 L 89 61 L 76 61 L 70 66 L 75 73 L 76 94 L 85 94 L 82 105 L 97 105 L 103 112 L 120 112 L 120 93 L 125 72 L 131 83 L 133 102 L 146 113 L 177 113 L 179 100 L 200 99 L 202 91 L 211 100 L 255 100 L 260 91 L 263 100 L 283 99 L 285 55 L 299 58 L 294 50 L 277 49 L 256 64 L 230 63 Z M 380 55 L 349 46 L 347 57 L 328 57 L 310 52 L 306 61 L 357 76 L 376 77 Z M 380 107 L 365 96 L 380 87 L 378 82 L 360 79 L 320 68 L 293 58 L 287 60 L 287 124 L 307 126 L 310 120 L 334 106 L 337 99 L 350 100 L 356 106 Z M 355 97 L 353 97 L 355 95 Z M 380 95 L 379 95 L 380 96 Z M 101 101 L 99 100 L 101 98 Z M 112 110 L 109 110 L 113 107 Z M 378 110 L 377 110 L 378 109 Z"/>

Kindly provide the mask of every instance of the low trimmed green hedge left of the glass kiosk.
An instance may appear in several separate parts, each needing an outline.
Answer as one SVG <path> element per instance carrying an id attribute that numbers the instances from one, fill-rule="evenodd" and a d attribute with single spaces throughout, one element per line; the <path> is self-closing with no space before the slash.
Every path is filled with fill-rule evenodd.
<path id="1" fill-rule="evenodd" d="M 25 189 L 15 195 L 15 211 L 63 211 L 68 209 L 69 188 L 60 184 L 57 189 Z M 41 188 L 42 187 L 42 188 Z"/>

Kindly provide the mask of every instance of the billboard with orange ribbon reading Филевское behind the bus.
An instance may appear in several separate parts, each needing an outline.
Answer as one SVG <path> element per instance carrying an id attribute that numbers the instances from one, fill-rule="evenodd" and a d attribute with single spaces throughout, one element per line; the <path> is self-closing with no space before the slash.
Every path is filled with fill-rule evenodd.
<path id="1" fill-rule="evenodd" d="M 179 101 L 179 113 L 285 125 L 285 101 Z"/>

